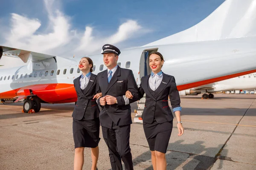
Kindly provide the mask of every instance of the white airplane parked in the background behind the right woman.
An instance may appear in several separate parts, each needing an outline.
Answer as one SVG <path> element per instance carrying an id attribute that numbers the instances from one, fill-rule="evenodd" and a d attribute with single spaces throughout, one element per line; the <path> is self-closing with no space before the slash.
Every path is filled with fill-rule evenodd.
<path id="1" fill-rule="evenodd" d="M 203 99 L 214 98 L 214 92 L 256 89 L 256 73 L 214 82 L 208 85 L 179 91 L 180 96 L 203 94 Z M 209 93 L 209 94 L 207 94 Z"/>

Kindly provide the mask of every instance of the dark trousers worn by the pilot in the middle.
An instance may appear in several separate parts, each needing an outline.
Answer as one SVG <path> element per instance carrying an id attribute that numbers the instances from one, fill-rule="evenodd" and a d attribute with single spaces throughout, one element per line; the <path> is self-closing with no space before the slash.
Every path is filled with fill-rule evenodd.
<path id="1" fill-rule="evenodd" d="M 102 126 L 102 135 L 108 146 L 112 170 L 122 170 L 122 161 L 125 170 L 133 170 L 130 131 L 131 125 L 116 126 L 113 123 L 111 129 Z"/>

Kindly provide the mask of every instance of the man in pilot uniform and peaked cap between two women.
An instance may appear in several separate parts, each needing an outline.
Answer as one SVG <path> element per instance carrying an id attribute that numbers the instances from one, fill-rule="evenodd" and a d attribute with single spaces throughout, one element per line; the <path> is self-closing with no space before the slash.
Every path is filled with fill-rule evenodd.
<path id="1" fill-rule="evenodd" d="M 103 61 L 107 70 L 98 74 L 98 88 L 102 97 L 97 103 L 102 107 L 99 119 L 103 138 L 108 146 L 112 170 L 133 170 L 131 148 L 129 144 L 131 129 L 130 103 L 139 100 L 138 88 L 131 70 L 120 68 L 117 60 L 120 50 L 111 44 L 102 47 Z M 131 91 L 132 99 L 125 96 Z"/>

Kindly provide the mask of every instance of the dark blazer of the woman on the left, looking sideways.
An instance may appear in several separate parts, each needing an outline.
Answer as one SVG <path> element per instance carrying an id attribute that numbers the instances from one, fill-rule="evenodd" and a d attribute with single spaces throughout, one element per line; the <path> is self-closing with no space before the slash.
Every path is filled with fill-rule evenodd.
<path id="1" fill-rule="evenodd" d="M 96 103 L 96 99 L 93 99 L 93 96 L 100 93 L 100 91 L 96 91 L 97 76 L 92 73 L 90 74 L 90 79 L 84 89 L 84 93 L 80 88 L 80 78 L 81 76 L 74 79 L 77 101 L 72 117 L 77 120 L 81 120 L 83 117 L 86 120 L 96 119 L 99 117 L 99 107 Z"/>

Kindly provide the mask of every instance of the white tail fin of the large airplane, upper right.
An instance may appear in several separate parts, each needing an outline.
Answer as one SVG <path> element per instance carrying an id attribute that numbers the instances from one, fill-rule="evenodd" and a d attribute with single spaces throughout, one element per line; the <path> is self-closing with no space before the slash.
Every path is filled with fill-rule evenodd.
<path id="1" fill-rule="evenodd" d="M 200 23 L 143 46 L 256 36 L 256 0 L 226 0 Z"/>

